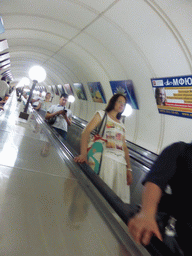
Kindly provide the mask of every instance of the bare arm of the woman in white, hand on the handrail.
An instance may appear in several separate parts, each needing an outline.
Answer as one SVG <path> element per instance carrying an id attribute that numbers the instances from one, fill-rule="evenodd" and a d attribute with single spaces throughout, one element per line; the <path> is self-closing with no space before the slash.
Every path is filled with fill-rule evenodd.
<path id="1" fill-rule="evenodd" d="M 101 117 L 99 113 L 96 113 L 92 120 L 88 123 L 86 128 L 83 130 L 81 134 L 81 146 L 80 146 L 80 155 L 75 157 L 75 162 L 83 163 L 87 162 L 87 147 L 90 133 L 97 127 L 97 125 L 101 122 Z"/>

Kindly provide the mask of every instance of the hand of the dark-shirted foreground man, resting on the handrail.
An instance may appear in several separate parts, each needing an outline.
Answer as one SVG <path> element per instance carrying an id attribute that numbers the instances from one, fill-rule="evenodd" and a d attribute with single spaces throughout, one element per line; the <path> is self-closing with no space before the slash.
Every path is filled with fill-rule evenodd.
<path id="1" fill-rule="evenodd" d="M 153 235 L 163 241 L 153 215 L 140 212 L 129 221 L 128 228 L 134 240 L 139 244 L 148 245 Z"/>

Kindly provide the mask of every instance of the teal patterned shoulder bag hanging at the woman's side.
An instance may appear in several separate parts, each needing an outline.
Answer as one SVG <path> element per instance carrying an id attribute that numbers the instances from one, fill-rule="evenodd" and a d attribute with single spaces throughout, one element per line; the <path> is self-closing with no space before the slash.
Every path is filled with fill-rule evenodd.
<path id="1" fill-rule="evenodd" d="M 104 123 L 104 120 L 106 119 L 107 119 L 107 113 L 105 112 L 105 115 L 99 126 L 98 132 L 91 138 L 88 144 L 88 149 L 87 149 L 88 165 L 98 175 L 100 172 L 100 167 L 102 162 L 102 153 L 104 149 L 104 144 L 107 142 L 107 140 L 102 137 L 104 134 L 105 125 L 106 125 L 106 122 Z M 102 134 L 100 135 L 102 126 L 103 126 L 103 131 L 102 131 Z"/>

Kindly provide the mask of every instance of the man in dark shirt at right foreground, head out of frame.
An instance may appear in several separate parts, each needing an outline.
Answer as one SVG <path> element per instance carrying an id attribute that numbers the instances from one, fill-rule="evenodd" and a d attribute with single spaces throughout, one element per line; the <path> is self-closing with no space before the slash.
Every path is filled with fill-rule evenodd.
<path id="1" fill-rule="evenodd" d="M 141 211 L 128 222 L 135 241 L 147 245 L 153 235 L 163 240 L 156 214 L 169 185 L 172 194 L 167 212 L 177 220 L 176 239 L 184 255 L 192 255 L 192 144 L 178 142 L 165 148 L 143 184 Z"/>

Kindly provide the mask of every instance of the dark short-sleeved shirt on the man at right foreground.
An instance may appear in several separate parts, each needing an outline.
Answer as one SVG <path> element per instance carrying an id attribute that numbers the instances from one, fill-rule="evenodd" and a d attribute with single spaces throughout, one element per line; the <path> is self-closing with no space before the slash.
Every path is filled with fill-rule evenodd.
<path id="1" fill-rule="evenodd" d="M 184 248 L 191 247 L 192 144 L 177 142 L 165 148 L 145 177 L 143 184 L 147 181 L 156 184 L 163 192 L 167 185 L 171 187 L 169 210 L 177 219 L 176 231 L 179 241 Z M 190 253 L 192 255 L 192 252 Z"/>

